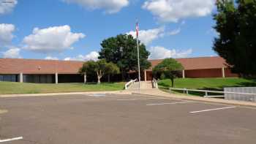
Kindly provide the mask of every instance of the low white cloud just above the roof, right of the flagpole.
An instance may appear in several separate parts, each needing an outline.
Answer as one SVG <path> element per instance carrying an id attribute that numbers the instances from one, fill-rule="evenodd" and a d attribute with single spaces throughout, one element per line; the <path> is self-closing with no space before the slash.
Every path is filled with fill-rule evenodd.
<path id="1" fill-rule="evenodd" d="M 185 58 L 192 53 L 192 49 L 188 50 L 168 50 L 164 47 L 151 47 L 149 49 L 151 55 L 149 56 L 150 59 L 162 59 L 162 58 Z"/>

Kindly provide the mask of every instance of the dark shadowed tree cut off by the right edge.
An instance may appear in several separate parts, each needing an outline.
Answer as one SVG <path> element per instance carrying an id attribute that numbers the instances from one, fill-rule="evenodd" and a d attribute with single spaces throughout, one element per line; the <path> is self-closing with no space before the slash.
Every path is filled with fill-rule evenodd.
<path id="1" fill-rule="evenodd" d="M 256 74 L 256 1 L 217 1 L 214 29 L 219 33 L 213 49 L 225 58 L 233 72 Z"/>

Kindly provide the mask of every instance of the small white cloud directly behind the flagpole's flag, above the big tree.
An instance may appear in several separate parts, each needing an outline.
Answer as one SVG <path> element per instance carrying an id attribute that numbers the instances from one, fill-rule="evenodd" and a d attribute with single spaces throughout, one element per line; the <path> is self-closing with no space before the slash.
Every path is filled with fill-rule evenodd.
<path id="1" fill-rule="evenodd" d="M 132 37 L 136 37 L 136 31 L 129 31 L 127 34 L 131 34 Z M 148 29 L 139 31 L 139 39 L 143 44 L 148 45 L 154 39 L 163 37 L 165 35 L 165 28 L 159 27 L 157 29 Z"/>

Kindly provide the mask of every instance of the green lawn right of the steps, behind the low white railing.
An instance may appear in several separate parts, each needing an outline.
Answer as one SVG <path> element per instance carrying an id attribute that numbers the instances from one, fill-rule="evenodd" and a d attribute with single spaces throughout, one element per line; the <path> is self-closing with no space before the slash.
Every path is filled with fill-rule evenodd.
<path id="1" fill-rule="evenodd" d="M 171 81 L 160 80 L 159 88 L 167 90 L 171 86 Z M 174 80 L 174 88 L 189 88 L 189 89 L 203 89 L 223 91 L 225 87 L 241 87 L 241 86 L 256 86 L 256 80 L 246 80 L 244 78 L 178 78 Z M 194 93 L 195 95 L 200 95 Z"/>

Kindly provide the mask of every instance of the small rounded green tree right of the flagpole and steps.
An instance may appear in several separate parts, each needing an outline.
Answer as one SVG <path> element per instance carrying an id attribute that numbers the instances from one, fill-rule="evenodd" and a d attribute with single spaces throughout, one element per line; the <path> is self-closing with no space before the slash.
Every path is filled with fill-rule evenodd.
<path id="1" fill-rule="evenodd" d="M 184 67 L 174 58 L 165 58 L 161 63 L 157 64 L 157 66 L 153 68 L 153 74 L 165 75 L 165 77 L 170 78 L 173 87 L 174 79 L 178 77 L 178 75 L 181 75 L 182 69 L 184 69 Z"/>

